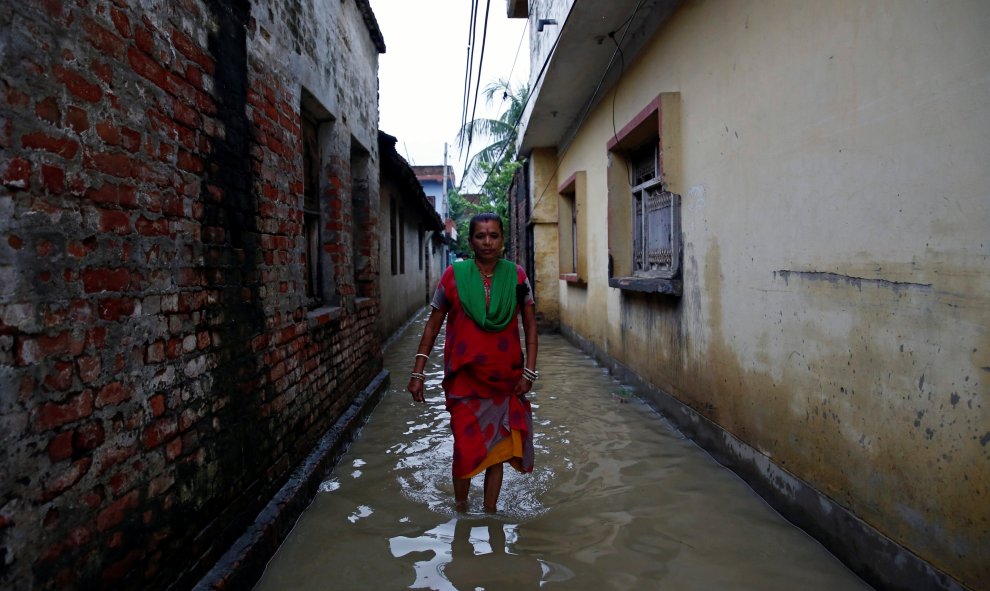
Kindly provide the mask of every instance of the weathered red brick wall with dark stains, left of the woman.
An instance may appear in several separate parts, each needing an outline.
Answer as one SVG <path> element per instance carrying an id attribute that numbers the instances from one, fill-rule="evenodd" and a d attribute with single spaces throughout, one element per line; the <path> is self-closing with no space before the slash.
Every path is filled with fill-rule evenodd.
<path id="1" fill-rule="evenodd" d="M 0 10 L 0 587 L 186 586 L 380 370 L 384 46 L 366 2 L 305 4 Z M 315 311 L 303 86 L 346 138 Z"/>

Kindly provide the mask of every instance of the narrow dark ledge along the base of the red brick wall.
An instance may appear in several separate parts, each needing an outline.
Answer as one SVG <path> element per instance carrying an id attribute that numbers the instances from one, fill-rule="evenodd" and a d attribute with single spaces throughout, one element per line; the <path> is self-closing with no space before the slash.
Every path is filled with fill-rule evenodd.
<path id="1" fill-rule="evenodd" d="M 262 509 L 254 523 L 193 589 L 209 591 L 254 587 L 269 559 L 313 501 L 320 483 L 340 460 L 381 400 L 388 384 L 389 373 L 383 370 L 358 393 L 344 414 L 293 471 L 288 482 Z"/>

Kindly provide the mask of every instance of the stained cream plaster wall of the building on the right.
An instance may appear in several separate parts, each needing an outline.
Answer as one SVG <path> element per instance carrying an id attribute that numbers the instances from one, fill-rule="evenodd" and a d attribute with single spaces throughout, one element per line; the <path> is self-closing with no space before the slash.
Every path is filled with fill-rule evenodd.
<path id="1" fill-rule="evenodd" d="M 589 195 L 589 285 L 558 282 L 561 322 L 974 588 L 987 31 L 977 0 L 687 2 L 557 171 L 587 171 Z M 681 99 L 679 299 L 607 286 L 613 109 L 621 128 L 661 92 Z"/>

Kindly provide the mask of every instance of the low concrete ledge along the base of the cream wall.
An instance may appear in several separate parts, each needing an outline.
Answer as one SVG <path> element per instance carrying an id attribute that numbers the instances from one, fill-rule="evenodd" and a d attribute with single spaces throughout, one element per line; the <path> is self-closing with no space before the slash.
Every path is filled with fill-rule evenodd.
<path id="1" fill-rule="evenodd" d="M 570 327 L 561 333 L 582 351 L 636 388 L 636 393 L 667 417 L 719 464 L 738 474 L 788 521 L 818 540 L 850 570 L 877 589 L 967 591 L 968 587 L 883 535 L 807 482 L 772 462 L 691 407 L 612 359 Z"/>

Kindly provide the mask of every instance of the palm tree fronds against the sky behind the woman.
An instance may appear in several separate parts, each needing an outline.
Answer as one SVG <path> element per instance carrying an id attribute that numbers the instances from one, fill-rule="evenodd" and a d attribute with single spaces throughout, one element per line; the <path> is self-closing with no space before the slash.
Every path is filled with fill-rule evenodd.
<path id="1" fill-rule="evenodd" d="M 499 95 L 503 101 L 509 101 L 509 104 L 498 119 L 473 119 L 465 123 L 457 133 L 457 146 L 459 148 L 466 146 L 469 153 L 472 140 L 476 137 L 487 136 L 492 140 L 468 160 L 461 179 L 462 184 L 467 179 L 475 182 L 482 180 L 482 175 L 488 174 L 491 170 L 498 170 L 501 164 L 511 162 L 515 158 L 516 133 L 519 119 L 526 107 L 526 100 L 529 98 L 529 85 L 523 83 L 513 90 L 508 80 L 499 79 L 485 87 L 483 93 L 485 102 L 489 105 Z M 487 171 L 482 169 L 482 163 L 488 165 Z"/>

